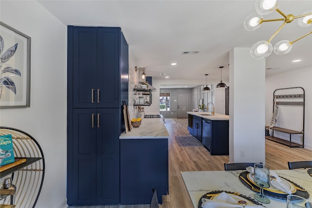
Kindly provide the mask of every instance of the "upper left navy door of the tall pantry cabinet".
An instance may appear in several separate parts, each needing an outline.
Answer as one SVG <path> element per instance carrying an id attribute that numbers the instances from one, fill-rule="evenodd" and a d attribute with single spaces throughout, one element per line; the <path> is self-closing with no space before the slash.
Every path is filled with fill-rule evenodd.
<path id="1" fill-rule="evenodd" d="M 95 108 L 97 106 L 97 28 L 69 27 L 72 37 L 72 89 L 73 108 Z M 71 77 L 69 77 L 71 78 Z M 70 84 L 70 83 L 69 83 Z"/>

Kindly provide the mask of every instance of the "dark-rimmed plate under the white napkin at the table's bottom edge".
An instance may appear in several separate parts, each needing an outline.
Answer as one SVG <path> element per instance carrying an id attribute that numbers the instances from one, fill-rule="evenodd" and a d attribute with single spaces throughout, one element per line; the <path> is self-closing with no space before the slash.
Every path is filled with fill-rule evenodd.
<path id="1" fill-rule="evenodd" d="M 201 208 L 201 199 L 205 198 L 205 199 L 214 199 L 216 196 L 218 196 L 220 193 L 222 192 L 226 192 L 227 194 L 230 194 L 232 196 L 232 198 L 234 198 L 237 201 L 246 201 L 247 205 L 261 205 L 263 206 L 261 203 L 259 203 L 258 201 L 256 201 L 255 199 L 239 194 L 239 195 L 234 195 L 234 192 L 231 191 L 226 191 L 226 190 L 214 190 L 211 192 L 206 193 L 205 195 L 203 195 L 202 197 L 200 197 L 199 202 L 198 202 L 198 208 Z M 265 208 L 265 207 L 264 207 Z"/>

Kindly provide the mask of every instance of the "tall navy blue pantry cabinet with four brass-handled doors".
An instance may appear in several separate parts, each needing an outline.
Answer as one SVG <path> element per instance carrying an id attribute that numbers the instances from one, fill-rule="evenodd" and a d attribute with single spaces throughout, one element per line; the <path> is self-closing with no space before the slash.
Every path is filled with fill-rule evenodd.
<path id="1" fill-rule="evenodd" d="M 67 203 L 119 204 L 128 44 L 116 27 L 68 26 Z"/>

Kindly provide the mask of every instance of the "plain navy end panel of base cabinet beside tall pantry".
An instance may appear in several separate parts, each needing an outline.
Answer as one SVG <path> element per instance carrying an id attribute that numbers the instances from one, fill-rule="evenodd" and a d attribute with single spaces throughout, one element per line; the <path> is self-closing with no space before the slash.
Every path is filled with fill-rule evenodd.
<path id="1" fill-rule="evenodd" d="M 120 139 L 120 204 L 150 204 L 169 193 L 168 138 Z"/>

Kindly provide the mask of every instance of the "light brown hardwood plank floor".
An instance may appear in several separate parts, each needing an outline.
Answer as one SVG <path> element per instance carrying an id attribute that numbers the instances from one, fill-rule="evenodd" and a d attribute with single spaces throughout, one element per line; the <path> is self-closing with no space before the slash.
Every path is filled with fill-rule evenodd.
<path id="1" fill-rule="evenodd" d="M 179 147 L 175 136 L 191 135 L 187 118 L 174 118 L 176 124 L 165 124 L 169 134 L 169 195 L 163 196 L 161 208 L 193 208 L 181 171 L 224 170 L 229 156 L 212 156 L 204 147 Z M 263 130 L 264 131 L 264 130 Z M 312 150 L 289 148 L 266 140 L 266 165 L 272 170 L 287 170 L 288 161 L 312 160 Z M 251 161 L 252 162 L 252 161 Z M 149 205 L 106 205 L 70 208 L 149 208 Z"/>

